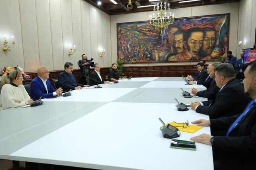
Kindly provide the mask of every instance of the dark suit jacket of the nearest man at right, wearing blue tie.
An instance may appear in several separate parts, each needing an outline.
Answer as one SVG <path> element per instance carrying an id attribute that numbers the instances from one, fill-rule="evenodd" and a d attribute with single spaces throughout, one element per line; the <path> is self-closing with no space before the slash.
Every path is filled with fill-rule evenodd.
<path id="1" fill-rule="evenodd" d="M 244 108 L 247 108 L 247 106 Z M 215 130 L 225 130 L 226 134 L 232 123 L 240 114 L 213 119 L 211 120 L 211 128 Z M 222 156 L 218 161 L 219 167 L 214 167 L 216 169 L 255 169 L 256 104 L 242 117 L 228 137 L 225 137 L 225 135 L 214 136 L 213 153 L 214 155 Z"/>

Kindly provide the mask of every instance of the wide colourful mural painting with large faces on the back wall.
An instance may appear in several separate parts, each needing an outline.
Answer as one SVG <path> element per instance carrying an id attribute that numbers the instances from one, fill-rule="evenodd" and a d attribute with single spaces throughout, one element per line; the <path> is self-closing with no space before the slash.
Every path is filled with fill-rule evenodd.
<path id="1" fill-rule="evenodd" d="M 124 63 L 218 60 L 228 50 L 229 14 L 178 18 L 164 35 L 148 21 L 117 23 Z"/>

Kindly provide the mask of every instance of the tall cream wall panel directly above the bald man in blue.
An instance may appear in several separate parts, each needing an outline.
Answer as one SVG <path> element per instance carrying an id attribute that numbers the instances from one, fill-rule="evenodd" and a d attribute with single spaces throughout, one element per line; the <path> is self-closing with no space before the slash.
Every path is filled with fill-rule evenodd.
<path id="1" fill-rule="evenodd" d="M 40 65 L 53 70 L 49 1 L 36 0 Z"/>

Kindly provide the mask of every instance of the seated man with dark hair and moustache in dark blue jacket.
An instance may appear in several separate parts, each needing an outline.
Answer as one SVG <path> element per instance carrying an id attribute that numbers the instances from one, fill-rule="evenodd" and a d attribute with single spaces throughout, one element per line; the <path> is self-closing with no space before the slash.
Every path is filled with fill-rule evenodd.
<path id="1" fill-rule="evenodd" d="M 90 87 L 89 85 L 78 84 L 76 77 L 72 74 L 73 64 L 66 62 L 64 65 L 65 70 L 59 74 L 58 84 L 62 87 L 63 91 L 82 89 L 82 87 Z"/>

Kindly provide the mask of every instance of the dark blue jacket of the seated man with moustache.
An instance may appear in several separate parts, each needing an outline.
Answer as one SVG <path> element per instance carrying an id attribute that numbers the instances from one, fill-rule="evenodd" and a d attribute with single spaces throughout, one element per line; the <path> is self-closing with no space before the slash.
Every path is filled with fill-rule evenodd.
<path id="1" fill-rule="evenodd" d="M 64 92 L 69 91 L 70 89 L 74 90 L 77 86 L 83 87 L 83 84 L 78 84 L 76 82 L 76 77 L 73 74 L 69 75 L 65 71 L 59 74 L 58 84 L 60 87 L 62 87 Z"/>

